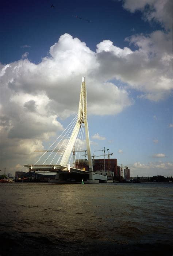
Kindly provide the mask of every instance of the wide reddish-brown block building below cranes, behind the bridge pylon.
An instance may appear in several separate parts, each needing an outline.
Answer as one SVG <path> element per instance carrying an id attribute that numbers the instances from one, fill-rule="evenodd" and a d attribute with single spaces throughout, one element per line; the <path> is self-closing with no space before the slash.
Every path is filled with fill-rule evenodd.
<path id="1" fill-rule="evenodd" d="M 101 159 L 92 159 L 93 171 L 97 174 L 107 175 L 108 177 L 115 177 L 117 173 L 117 159 L 116 158 L 101 158 Z M 89 170 L 88 160 L 77 159 L 75 161 L 75 166 L 78 169 Z M 105 170 L 104 170 L 105 169 Z"/>

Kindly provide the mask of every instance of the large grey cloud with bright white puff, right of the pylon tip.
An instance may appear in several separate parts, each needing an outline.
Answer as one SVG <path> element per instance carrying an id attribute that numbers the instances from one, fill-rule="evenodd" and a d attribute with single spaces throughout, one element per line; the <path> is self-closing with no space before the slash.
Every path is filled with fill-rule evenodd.
<path id="1" fill-rule="evenodd" d="M 119 49 L 109 40 L 97 45 L 98 77 L 122 80 L 142 92 L 139 98 L 165 99 L 173 89 L 171 34 L 154 31 L 147 36 L 133 35 L 126 41 L 138 49 Z"/>

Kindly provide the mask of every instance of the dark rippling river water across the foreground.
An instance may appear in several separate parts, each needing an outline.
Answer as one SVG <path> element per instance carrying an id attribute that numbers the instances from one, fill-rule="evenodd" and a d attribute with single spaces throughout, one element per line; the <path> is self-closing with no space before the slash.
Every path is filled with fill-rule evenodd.
<path id="1" fill-rule="evenodd" d="M 0 184 L 0 256 L 173 255 L 173 184 Z"/>

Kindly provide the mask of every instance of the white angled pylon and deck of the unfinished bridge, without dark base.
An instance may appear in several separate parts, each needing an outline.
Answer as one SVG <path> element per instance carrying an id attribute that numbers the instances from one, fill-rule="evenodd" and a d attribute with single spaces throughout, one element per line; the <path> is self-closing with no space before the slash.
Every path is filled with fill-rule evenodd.
<path id="1" fill-rule="evenodd" d="M 85 128 L 85 139 L 86 139 L 86 148 L 87 148 L 87 155 L 88 155 L 89 172 L 84 171 L 84 170 L 80 170 L 80 169 L 77 169 L 77 168 L 74 168 L 74 167 L 70 167 L 70 163 L 69 163 L 70 162 L 70 160 L 69 160 L 70 154 L 73 152 L 73 147 L 74 147 L 74 144 L 76 142 L 76 139 L 77 139 L 77 136 L 79 134 L 79 131 L 80 131 L 81 127 Z M 54 143 L 56 141 L 54 141 Z M 46 152 L 48 152 L 48 151 L 49 150 L 47 150 Z M 52 150 L 52 151 L 54 151 L 54 150 Z M 39 158 L 39 160 L 41 159 L 41 157 Z M 46 162 L 46 160 L 45 160 L 45 162 Z M 56 163 L 56 165 L 54 165 L 54 164 L 45 165 L 45 162 L 43 163 L 43 165 L 36 165 L 36 163 L 35 163 L 35 165 L 32 165 L 32 164 L 31 165 L 24 165 L 24 167 L 29 168 L 30 171 L 39 170 L 39 171 L 50 171 L 50 172 L 58 172 L 58 171 L 77 172 L 77 173 L 81 173 L 81 174 L 89 173 L 89 180 L 95 180 L 95 179 L 97 179 L 97 180 L 107 180 L 107 177 L 93 173 L 91 148 L 90 148 L 90 141 L 89 141 L 89 131 L 88 131 L 88 121 L 87 121 L 87 103 L 86 103 L 85 77 L 82 77 L 81 93 L 80 93 L 80 101 L 79 101 L 77 121 L 76 121 L 76 124 L 74 125 L 74 128 L 73 128 L 72 134 L 70 136 L 70 139 L 69 139 L 68 143 L 66 144 L 65 149 L 63 150 L 61 160 L 59 160 L 59 163 Z"/>

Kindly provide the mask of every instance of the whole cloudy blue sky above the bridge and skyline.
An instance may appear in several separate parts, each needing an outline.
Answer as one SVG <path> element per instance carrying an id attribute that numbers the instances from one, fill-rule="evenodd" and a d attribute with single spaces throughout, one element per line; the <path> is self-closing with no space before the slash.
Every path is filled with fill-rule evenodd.
<path id="1" fill-rule="evenodd" d="M 91 153 L 173 176 L 172 16 L 172 0 L 1 3 L 1 173 L 62 133 L 85 76 Z"/>

